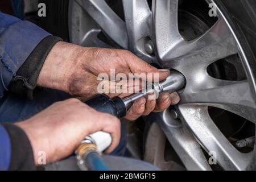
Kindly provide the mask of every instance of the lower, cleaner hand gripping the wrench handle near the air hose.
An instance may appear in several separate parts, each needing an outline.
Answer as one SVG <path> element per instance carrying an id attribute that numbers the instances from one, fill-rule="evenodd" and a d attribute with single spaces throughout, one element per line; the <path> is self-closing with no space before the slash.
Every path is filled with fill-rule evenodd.
<path id="1" fill-rule="evenodd" d="M 76 98 L 56 102 L 34 117 L 16 123 L 31 142 L 35 164 L 39 151 L 46 152 L 47 163 L 56 162 L 73 153 L 89 134 L 105 131 L 112 135 L 109 154 L 120 139 L 120 121 L 112 115 L 99 113 Z"/>

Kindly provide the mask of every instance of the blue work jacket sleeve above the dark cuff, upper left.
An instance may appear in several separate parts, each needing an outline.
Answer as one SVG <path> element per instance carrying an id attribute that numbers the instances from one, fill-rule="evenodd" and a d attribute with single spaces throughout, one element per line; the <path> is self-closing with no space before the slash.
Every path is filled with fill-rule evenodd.
<path id="1" fill-rule="evenodd" d="M 31 22 L 0 12 L 0 96 L 30 53 L 49 35 Z"/>

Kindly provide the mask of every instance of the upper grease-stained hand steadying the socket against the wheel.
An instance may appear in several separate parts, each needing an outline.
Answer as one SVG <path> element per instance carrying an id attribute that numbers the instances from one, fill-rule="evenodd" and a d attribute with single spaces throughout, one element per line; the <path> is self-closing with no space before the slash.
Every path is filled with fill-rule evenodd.
<path id="1" fill-rule="evenodd" d="M 69 43 L 59 42 L 52 48 L 38 78 L 38 85 L 60 89 L 86 100 L 97 94 L 100 80 L 97 76 L 107 73 L 110 69 L 118 73 L 152 73 L 159 75 L 159 81 L 170 75 L 167 69 L 158 70 L 133 53 L 118 49 L 84 48 Z M 113 84 L 113 82 L 112 82 Z M 110 85 L 110 81 L 109 81 Z M 135 85 L 134 85 L 135 86 Z M 129 94 L 122 94 L 126 97 Z M 109 94 L 110 97 L 118 94 Z M 141 98 L 134 102 L 127 111 L 126 119 L 135 120 L 141 115 L 148 115 L 152 111 L 158 112 L 166 109 L 171 104 L 179 102 L 179 95 L 174 92 L 160 94 L 157 101 Z"/>

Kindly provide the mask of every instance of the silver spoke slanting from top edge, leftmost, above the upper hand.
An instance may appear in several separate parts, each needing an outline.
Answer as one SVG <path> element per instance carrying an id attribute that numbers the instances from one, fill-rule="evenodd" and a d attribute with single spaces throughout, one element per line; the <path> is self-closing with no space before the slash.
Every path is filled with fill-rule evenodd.
<path id="1" fill-rule="evenodd" d="M 128 49 L 128 36 L 126 24 L 121 18 L 102 0 L 76 0 L 87 11 L 93 20 L 101 27 L 118 46 Z"/>

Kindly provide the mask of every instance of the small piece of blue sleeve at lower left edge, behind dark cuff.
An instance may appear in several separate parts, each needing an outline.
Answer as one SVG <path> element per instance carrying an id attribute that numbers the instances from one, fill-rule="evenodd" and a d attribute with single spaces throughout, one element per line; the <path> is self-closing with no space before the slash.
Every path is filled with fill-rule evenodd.
<path id="1" fill-rule="evenodd" d="M 0 125 L 0 171 L 7 171 L 11 160 L 11 141 L 9 134 Z"/>

